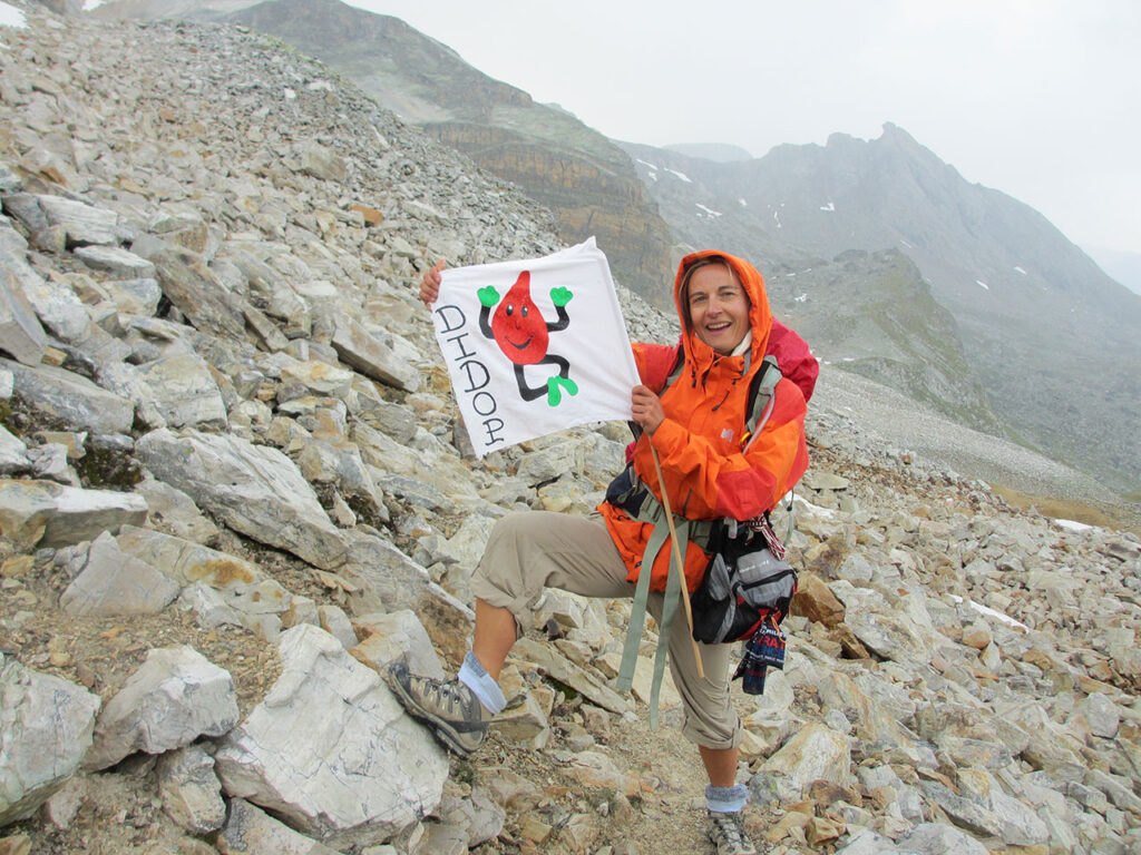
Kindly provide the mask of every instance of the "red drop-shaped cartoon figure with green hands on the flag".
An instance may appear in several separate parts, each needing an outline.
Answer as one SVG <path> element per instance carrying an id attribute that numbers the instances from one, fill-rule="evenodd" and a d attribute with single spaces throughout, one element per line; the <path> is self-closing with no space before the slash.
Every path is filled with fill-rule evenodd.
<path id="1" fill-rule="evenodd" d="M 479 329 L 488 339 L 494 339 L 500 350 L 515 365 L 515 380 L 519 386 L 519 397 L 525 401 L 533 401 L 547 393 L 547 402 L 557 407 L 563 400 L 563 390 L 567 394 L 578 393 L 578 384 L 570 380 L 570 363 L 566 357 L 548 351 L 550 345 L 550 334 L 560 329 L 566 329 L 570 324 L 570 316 L 566 306 L 574 294 L 566 287 L 551 288 L 551 304 L 558 311 L 558 319 L 548 321 L 543 318 L 539 306 L 531 298 L 531 271 L 524 270 L 515 285 L 503 296 L 499 299 L 499 292 L 494 285 L 486 285 L 479 290 L 479 303 L 483 307 L 479 311 Z M 495 314 L 492 308 L 499 303 Z M 487 317 L 491 315 L 491 324 Z M 525 366 L 553 365 L 558 367 L 558 374 L 542 380 L 540 385 L 533 386 L 527 380 Z"/>

